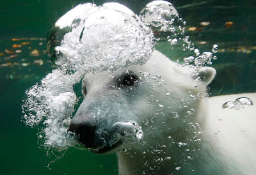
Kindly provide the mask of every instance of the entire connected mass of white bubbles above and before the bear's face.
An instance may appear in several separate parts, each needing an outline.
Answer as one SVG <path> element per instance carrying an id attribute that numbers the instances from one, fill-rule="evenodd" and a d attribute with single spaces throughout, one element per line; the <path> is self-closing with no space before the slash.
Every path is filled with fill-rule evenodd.
<path id="1" fill-rule="evenodd" d="M 59 68 L 26 91 L 22 106 L 24 121 L 29 126 L 42 124 L 38 137 L 44 139 L 44 146 L 58 149 L 74 146 L 77 143 L 74 136 L 67 134 L 79 100 L 74 85 L 81 82 L 86 72 L 145 64 L 159 40 L 154 33 L 168 33 L 170 45 L 183 42 L 184 49 L 195 52 L 196 57 L 184 58 L 184 66 L 200 69 L 211 65 L 216 57 L 211 52 L 200 55 L 189 37 L 184 36 L 180 23 L 186 24 L 167 1 L 148 3 L 139 16 L 118 3 L 102 6 L 86 3 L 68 11 L 47 34 L 49 57 Z M 217 47 L 214 45 L 213 53 Z M 156 75 L 158 79 L 160 75 Z M 136 137 L 141 140 L 143 133 L 138 128 Z"/>

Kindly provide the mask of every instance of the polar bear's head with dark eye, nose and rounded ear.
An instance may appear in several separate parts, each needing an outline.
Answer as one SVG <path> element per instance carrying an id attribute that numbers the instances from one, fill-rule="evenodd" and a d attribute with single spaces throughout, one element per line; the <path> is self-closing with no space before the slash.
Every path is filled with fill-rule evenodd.
<path id="1" fill-rule="evenodd" d="M 181 66 L 157 50 L 145 65 L 87 73 L 69 131 L 95 153 L 142 149 L 195 121 L 214 68 Z"/>

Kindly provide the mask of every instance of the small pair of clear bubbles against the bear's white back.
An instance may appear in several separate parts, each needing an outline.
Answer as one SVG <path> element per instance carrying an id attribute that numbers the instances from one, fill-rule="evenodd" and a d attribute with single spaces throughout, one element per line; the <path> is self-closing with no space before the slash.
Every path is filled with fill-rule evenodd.
<path id="1" fill-rule="evenodd" d="M 253 102 L 250 98 L 240 97 L 240 98 L 237 98 L 234 102 L 225 102 L 222 105 L 222 108 L 223 109 L 228 108 L 228 109 L 239 110 L 239 109 L 243 109 L 244 107 L 250 106 L 250 105 L 253 105 Z"/>

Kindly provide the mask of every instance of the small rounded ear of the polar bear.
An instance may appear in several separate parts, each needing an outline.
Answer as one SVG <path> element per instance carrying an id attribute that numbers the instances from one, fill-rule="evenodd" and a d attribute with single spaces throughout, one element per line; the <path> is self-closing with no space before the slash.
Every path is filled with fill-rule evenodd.
<path id="1" fill-rule="evenodd" d="M 211 67 L 202 67 L 200 68 L 198 73 L 198 77 L 200 77 L 202 82 L 204 82 L 205 85 L 208 85 L 212 81 L 212 79 L 214 79 L 214 76 L 216 75 L 216 70 Z"/>

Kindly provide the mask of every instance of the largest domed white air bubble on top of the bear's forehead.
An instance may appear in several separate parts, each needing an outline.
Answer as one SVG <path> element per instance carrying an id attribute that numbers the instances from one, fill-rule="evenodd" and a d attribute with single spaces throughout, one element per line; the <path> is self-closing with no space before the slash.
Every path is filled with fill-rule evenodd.
<path id="1" fill-rule="evenodd" d="M 65 19 L 69 26 L 61 22 Z M 151 29 L 117 3 L 98 8 L 92 4 L 78 6 L 56 22 L 49 36 L 51 60 L 84 72 L 144 64 L 154 48 Z"/>

